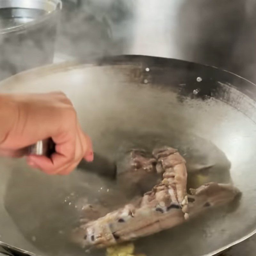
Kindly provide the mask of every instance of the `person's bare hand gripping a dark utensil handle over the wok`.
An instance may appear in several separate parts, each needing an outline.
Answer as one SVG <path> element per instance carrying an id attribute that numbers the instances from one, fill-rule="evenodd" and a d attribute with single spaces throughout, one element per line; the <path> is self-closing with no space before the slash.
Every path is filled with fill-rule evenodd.
<path id="1" fill-rule="evenodd" d="M 52 138 L 51 158 L 30 155 L 27 163 L 47 174 L 66 175 L 81 159 L 93 161 L 92 142 L 65 94 L 0 94 L 0 155 L 22 157 L 22 148 Z"/>

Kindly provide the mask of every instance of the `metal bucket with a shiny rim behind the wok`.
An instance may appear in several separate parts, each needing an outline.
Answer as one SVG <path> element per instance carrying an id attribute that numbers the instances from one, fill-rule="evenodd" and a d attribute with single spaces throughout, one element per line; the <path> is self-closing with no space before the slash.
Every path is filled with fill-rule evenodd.
<path id="1" fill-rule="evenodd" d="M 60 0 L 0 1 L 0 79 L 52 63 Z"/>

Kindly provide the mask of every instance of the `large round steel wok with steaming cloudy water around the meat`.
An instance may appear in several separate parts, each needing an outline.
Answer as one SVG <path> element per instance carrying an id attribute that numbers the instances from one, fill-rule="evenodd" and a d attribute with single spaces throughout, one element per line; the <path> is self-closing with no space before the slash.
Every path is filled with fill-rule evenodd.
<path id="1" fill-rule="evenodd" d="M 236 204 L 136 241 L 139 252 L 210 256 L 255 233 L 254 84 L 214 67 L 148 56 L 51 65 L 0 84 L 0 92 L 57 90 L 74 103 L 97 153 L 115 160 L 132 147 L 169 145 L 186 158 L 190 187 L 233 182 L 242 191 Z M 198 172 L 198 164 L 213 167 Z M 47 176 L 24 159 L 1 159 L 0 165 L 1 241 L 40 255 L 103 253 L 80 250 L 67 234 L 79 218 L 79 200 L 123 200 L 112 181 L 79 169 Z"/>

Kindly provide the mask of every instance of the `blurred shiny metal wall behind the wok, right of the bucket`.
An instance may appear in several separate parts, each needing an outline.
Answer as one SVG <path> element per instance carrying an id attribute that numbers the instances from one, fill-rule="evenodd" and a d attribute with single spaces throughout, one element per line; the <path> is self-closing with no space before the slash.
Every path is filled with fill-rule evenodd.
<path id="1" fill-rule="evenodd" d="M 254 0 L 86 0 L 63 16 L 58 47 L 84 59 L 143 54 L 188 60 L 255 83 L 255 11 Z"/>

